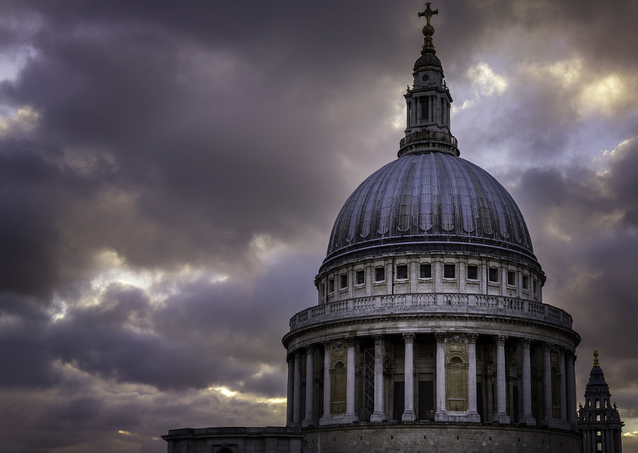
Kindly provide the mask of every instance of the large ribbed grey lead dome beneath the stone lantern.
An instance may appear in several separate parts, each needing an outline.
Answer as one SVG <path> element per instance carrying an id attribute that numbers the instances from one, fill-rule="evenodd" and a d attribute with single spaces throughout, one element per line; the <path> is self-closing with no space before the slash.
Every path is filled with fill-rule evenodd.
<path id="1" fill-rule="evenodd" d="M 442 152 L 405 155 L 367 178 L 332 228 L 331 259 L 391 247 L 523 255 L 536 262 L 518 206 L 488 172 Z M 437 249 L 437 247 L 439 247 Z"/>

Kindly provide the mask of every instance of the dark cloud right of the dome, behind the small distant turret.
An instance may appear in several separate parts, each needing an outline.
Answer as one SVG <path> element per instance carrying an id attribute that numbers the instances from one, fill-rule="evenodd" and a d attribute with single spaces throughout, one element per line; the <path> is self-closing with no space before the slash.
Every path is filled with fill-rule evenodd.
<path id="1" fill-rule="evenodd" d="M 630 283 L 638 269 L 637 159 L 634 139 L 615 150 L 607 172 L 535 169 L 515 190 L 524 210 L 536 213 L 527 223 L 548 274 L 545 301 L 571 313 L 583 337 L 579 381 L 585 384 L 598 349 L 616 398 L 627 388 L 619 405 L 627 416 L 635 415 L 630 389 L 638 384 L 638 297 Z"/>

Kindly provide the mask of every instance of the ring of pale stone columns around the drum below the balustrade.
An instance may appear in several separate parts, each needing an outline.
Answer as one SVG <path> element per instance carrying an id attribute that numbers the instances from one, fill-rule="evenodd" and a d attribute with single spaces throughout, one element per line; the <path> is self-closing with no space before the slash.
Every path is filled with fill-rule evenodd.
<path id="1" fill-rule="evenodd" d="M 454 335 L 454 339 L 452 340 Z M 374 335 L 374 412 L 371 413 L 369 421 L 372 423 L 383 422 L 387 419 L 385 413 L 385 403 L 387 396 L 384 395 L 384 345 L 389 335 Z M 481 335 L 487 338 L 488 342 L 496 346 L 496 382 L 493 398 L 493 419 L 481 420 L 477 411 L 477 369 L 476 369 L 476 339 L 477 334 L 463 334 L 459 340 L 459 334 L 437 333 L 436 338 L 436 406 L 435 421 L 459 421 L 468 423 L 480 423 L 481 421 L 494 421 L 498 423 L 511 423 L 514 414 L 508 413 L 507 408 L 507 392 L 508 382 L 506 379 L 506 362 L 505 362 L 505 342 L 508 340 L 506 335 Z M 395 337 L 396 338 L 396 337 Z M 519 409 L 517 419 L 520 423 L 527 425 L 550 425 L 553 427 L 564 427 L 566 429 L 576 429 L 576 383 L 574 373 L 574 363 L 576 356 L 573 352 L 558 345 L 552 345 L 547 342 L 535 342 L 535 346 L 542 347 L 542 417 L 541 420 L 535 420 L 532 415 L 532 361 L 530 360 L 530 338 L 515 339 L 520 343 L 520 357 L 516 357 L 522 364 L 519 376 L 522 379 L 522 410 Z M 346 391 L 345 391 L 345 413 L 341 411 L 339 414 L 331 414 L 331 389 L 330 389 L 330 369 L 332 365 L 331 346 L 332 342 L 325 341 L 323 344 L 308 345 L 307 347 L 298 348 L 289 352 L 287 362 L 288 370 L 288 403 L 286 425 L 307 427 L 311 425 L 335 424 L 335 423 L 351 423 L 359 420 L 360 414 L 355 410 L 356 398 L 356 338 L 344 338 L 339 340 L 342 345 L 347 348 L 345 354 L 346 362 Z M 446 342 L 461 341 L 466 345 L 466 367 L 467 367 L 467 400 L 466 410 L 450 410 L 447 393 L 446 393 L 446 362 L 450 354 L 446 353 Z M 405 390 L 404 390 L 404 411 L 401 421 L 411 422 L 417 420 L 415 413 L 415 358 L 414 358 L 414 342 L 415 333 L 403 333 L 403 343 L 405 346 L 404 372 Z M 314 385 L 315 385 L 315 350 L 323 349 L 323 416 L 320 420 L 315 418 L 315 401 L 314 401 Z M 560 391 L 559 398 L 556 398 L 554 391 L 554 401 L 552 400 L 552 351 L 558 354 L 559 374 L 560 374 Z M 511 358 L 511 357 L 510 357 Z M 309 390 L 305 393 L 305 411 L 302 414 L 302 367 L 305 362 L 305 381 L 306 388 Z M 555 363 L 555 362 L 554 362 Z M 492 370 L 491 370 L 492 371 Z M 478 373 L 481 376 L 481 371 Z M 489 379 L 491 379 L 490 373 Z M 308 384 L 310 383 L 310 384 Z M 558 401 L 556 401 L 558 400 Z M 560 418 L 552 415 L 552 403 L 554 406 L 560 406 Z M 360 405 L 359 405 L 360 406 Z M 511 412 L 512 410 L 510 410 Z M 303 418 L 302 418 L 303 415 Z M 539 414 L 540 415 L 540 414 Z"/>

